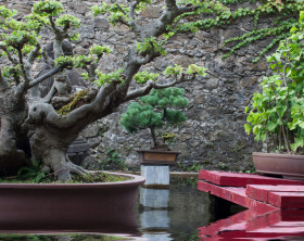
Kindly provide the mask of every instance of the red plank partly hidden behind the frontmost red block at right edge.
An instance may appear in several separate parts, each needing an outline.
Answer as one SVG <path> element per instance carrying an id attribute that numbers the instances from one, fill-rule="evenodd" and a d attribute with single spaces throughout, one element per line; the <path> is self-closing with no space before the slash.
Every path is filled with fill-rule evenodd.
<path id="1" fill-rule="evenodd" d="M 246 195 L 249 198 L 268 202 L 269 192 L 304 192 L 304 186 L 271 186 L 271 185 L 249 185 L 246 186 Z"/>

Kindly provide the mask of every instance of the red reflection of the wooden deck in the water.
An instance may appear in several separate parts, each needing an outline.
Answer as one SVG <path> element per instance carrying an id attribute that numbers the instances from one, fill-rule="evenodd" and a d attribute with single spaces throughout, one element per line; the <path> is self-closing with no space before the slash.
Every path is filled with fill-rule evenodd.
<path id="1" fill-rule="evenodd" d="M 200 240 L 304 240 L 304 210 L 248 210 L 199 228 Z"/>

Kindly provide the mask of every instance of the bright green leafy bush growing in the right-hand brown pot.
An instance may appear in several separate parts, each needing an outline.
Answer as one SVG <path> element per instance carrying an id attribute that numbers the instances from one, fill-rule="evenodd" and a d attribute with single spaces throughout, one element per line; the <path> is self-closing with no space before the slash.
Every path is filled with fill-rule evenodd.
<path id="1" fill-rule="evenodd" d="M 300 27 L 293 27 L 291 37 L 268 58 L 274 74 L 264 77 L 262 92 L 253 94 L 245 110 L 245 131 L 252 131 L 256 141 L 265 141 L 269 151 L 303 153 L 304 12 L 299 23 Z"/>

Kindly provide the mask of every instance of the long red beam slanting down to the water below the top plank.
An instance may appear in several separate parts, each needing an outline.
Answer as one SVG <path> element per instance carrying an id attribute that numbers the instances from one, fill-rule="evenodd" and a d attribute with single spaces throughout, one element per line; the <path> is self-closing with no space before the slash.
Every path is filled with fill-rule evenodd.
<path id="1" fill-rule="evenodd" d="M 216 195 L 221 199 L 226 199 L 226 200 L 233 202 L 236 204 L 239 204 L 241 206 L 252 208 L 256 215 L 278 210 L 277 207 L 268 205 L 267 203 L 263 203 L 257 200 L 248 198 L 245 195 L 244 188 L 219 187 L 219 186 L 200 180 L 198 182 L 198 189 L 201 191 L 204 191 L 204 192 L 210 192 L 213 195 Z"/>

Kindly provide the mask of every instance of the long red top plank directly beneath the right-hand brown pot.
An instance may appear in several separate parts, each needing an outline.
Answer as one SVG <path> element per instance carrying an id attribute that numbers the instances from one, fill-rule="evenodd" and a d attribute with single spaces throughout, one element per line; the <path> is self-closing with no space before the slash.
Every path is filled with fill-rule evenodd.
<path id="1" fill-rule="evenodd" d="M 246 187 L 246 185 L 304 185 L 304 181 L 265 177 L 256 174 L 225 173 L 219 170 L 201 170 L 199 179 L 218 186 Z"/>

